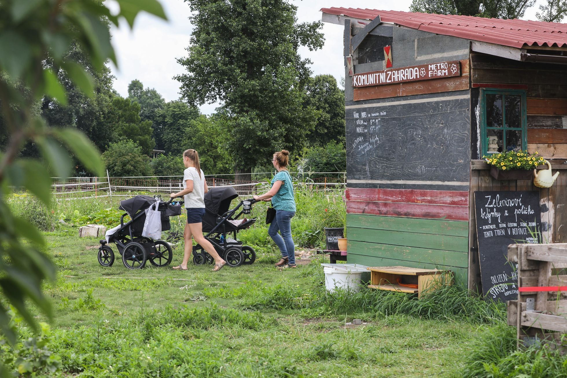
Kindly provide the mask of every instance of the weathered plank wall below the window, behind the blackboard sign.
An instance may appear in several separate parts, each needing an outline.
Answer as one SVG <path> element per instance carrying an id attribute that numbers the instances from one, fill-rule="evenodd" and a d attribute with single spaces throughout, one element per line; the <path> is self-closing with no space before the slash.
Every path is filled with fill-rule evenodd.
<path id="1" fill-rule="evenodd" d="M 552 170 L 560 171 L 551 188 L 538 188 L 530 180 L 495 180 L 490 176 L 488 165 L 482 160 L 473 160 L 471 164 L 471 191 L 469 197 L 469 240 L 471 253 L 469 256 L 469 287 L 480 286 L 480 268 L 478 242 L 476 238 L 475 191 L 515 191 L 537 190 L 540 192 L 541 231 L 544 243 L 567 242 L 567 161 L 553 161 Z M 476 272 L 476 274 L 475 274 Z"/>

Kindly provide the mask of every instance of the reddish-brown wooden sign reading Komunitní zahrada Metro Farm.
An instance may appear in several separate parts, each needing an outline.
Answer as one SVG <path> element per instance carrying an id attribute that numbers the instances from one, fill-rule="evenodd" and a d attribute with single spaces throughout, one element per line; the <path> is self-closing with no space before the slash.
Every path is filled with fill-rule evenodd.
<path id="1" fill-rule="evenodd" d="M 458 60 L 356 74 L 353 75 L 353 87 L 360 88 L 453 76 L 460 76 L 460 62 Z"/>

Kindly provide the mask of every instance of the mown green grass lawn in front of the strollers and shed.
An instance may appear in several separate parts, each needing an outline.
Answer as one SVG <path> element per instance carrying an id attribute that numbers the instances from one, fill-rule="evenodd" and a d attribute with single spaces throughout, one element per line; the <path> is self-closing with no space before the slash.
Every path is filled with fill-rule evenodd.
<path id="1" fill-rule="evenodd" d="M 218 273 L 149 263 L 131 271 L 119 254 L 112 267 L 99 266 L 98 241 L 76 233 L 46 233 L 58 267 L 45 288 L 55 312 L 48 348 L 62 368 L 44 376 L 456 376 L 479 332 L 494 327 L 468 317 L 386 316 L 348 295 L 325 295 L 323 257 L 285 271 L 274 268 L 275 252 Z M 172 266 L 181 246 L 174 254 Z M 345 324 L 353 318 L 366 324 Z M 25 326 L 20 333 L 31 335 Z"/>

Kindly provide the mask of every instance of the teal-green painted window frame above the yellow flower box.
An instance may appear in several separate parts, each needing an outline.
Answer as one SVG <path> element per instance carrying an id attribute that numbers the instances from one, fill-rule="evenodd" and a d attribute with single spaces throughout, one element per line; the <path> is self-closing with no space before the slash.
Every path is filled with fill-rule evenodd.
<path id="1" fill-rule="evenodd" d="M 502 95 L 502 128 L 499 127 L 487 127 L 486 126 L 486 95 L 487 94 L 494 94 L 494 95 Z M 521 127 L 506 127 L 506 95 L 514 95 L 514 96 L 521 96 Z M 494 152 L 488 152 L 488 144 L 486 143 L 487 138 L 487 131 L 488 130 L 502 130 L 502 146 L 504 148 L 503 152 L 505 151 L 506 147 L 506 131 L 507 130 L 521 130 L 522 132 L 522 150 L 527 149 L 527 92 L 526 90 L 521 89 L 493 89 L 493 88 L 481 88 L 480 94 L 480 103 L 481 103 L 481 156 L 489 156 L 494 154 Z"/>

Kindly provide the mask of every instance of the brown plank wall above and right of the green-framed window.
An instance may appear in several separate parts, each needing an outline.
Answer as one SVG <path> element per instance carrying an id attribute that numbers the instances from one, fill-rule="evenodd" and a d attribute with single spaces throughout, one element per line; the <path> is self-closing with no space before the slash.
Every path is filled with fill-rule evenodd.
<path id="1" fill-rule="evenodd" d="M 528 151 L 567 158 L 567 70 L 562 65 L 518 62 L 471 54 L 473 87 L 527 91 Z"/>

